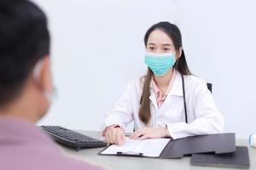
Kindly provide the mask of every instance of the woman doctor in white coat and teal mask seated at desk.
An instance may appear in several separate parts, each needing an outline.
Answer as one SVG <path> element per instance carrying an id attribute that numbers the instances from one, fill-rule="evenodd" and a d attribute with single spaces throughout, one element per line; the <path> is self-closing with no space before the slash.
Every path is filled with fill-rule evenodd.
<path id="1" fill-rule="evenodd" d="M 192 76 L 177 26 L 160 22 L 145 34 L 146 76 L 131 81 L 108 112 L 102 135 L 110 144 L 124 144 L 125 127 L 134 121 L 130 139 L 152 139 L 221 133 L 224 118 L 207 83 Z"/>

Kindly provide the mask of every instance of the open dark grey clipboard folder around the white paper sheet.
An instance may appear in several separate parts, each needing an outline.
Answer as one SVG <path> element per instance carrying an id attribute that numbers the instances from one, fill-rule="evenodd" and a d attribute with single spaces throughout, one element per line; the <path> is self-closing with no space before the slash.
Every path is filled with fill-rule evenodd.
<path id="1" fill-rule="evenodd" d="M 102 154 L 104 150 L 108 150 L 113 144 L 108 145 L 101 150 L 98 155 L 101 156 L 139 156 L 139 157 L 152 157 L 145 156 L 143 150 L 140 152 L 116 152 L 111 154 Z M 174 159 L 182 158 L 183 156 L 192 155 L 196 153 L 209 153 L 215 154 L 231 153 L 236 151 L 236 135 L 235 133 L 215 133 L 207 135 L 198 135 L 187 137 L 183 139 L 175 139 L 166 144 L 160 152 L 160 156 L 156 158 L 161 159 Z"/>

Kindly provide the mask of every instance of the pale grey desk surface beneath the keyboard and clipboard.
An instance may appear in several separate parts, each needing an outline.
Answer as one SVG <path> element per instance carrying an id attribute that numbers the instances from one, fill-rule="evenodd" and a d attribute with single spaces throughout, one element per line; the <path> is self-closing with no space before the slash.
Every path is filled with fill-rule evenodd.
<path id="1" fill-rule="evenodd" d="M 100 139 L 100 133 L 95 131 L 78 131 L 79 133 L 84 133 L 90 137 Z M 236 139 L 236 145 L 248 146 L 246 139 Z M 159 159 L 159 158 L 146 158 L 146 157 L 130 157 L 130 156 L 99 156 L 97 155 L 99 151 L 103 148 L 96 149 L 82 149 L 79 151 L 69 149 L 67 147 L 61 146 L 61 149 L 67 156 L 72 156 L 84 161 L 90 161 L 92 163 L 101 165 L 107 169 L 117 169 L 117 170 L 137 170 L 137 169 L 163 169 L 163 170 L 205 170 L 205 169 L 218 169 L 227 170 L 232 168 L 224 167 L 198 167 L 191 166 L 189 161 L 190 157 L 185 156 L 181 159 Z M 250 169 L 256 169 L 256 149 L 248 146 L 249 156 L 250 156 Z M 237 168 L 236 168 L 237 169 Z"/>

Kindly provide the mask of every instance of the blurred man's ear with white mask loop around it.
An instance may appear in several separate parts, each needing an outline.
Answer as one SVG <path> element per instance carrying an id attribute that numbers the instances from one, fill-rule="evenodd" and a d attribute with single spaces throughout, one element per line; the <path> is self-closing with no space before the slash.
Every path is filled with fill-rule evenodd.
<path id="1" fill-rule="evenodd" d="M 43 59 L 38 61 L 33 73 L 34 80 L 38 83 L 43 91 L 53 91 L 49 55 L 45 55 Z"/>

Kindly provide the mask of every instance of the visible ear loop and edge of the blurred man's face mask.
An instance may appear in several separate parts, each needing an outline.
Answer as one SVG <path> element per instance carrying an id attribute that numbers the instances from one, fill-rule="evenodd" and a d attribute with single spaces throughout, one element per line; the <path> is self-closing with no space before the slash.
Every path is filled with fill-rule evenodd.
<path id="1" fill-rule="evenodd" d="M 35 66 L 33 71 L 33 77 L 36 81 L 39 82 L 40 73 L 43 68 L 43 60 L 38 61 L 38 64 Z M 51 92 L 42 90 L 42 94 L 49 101 L 49 104 L 52 104 L 56 98 L 56 89 L 54 88 Z"/>

